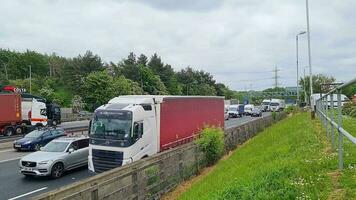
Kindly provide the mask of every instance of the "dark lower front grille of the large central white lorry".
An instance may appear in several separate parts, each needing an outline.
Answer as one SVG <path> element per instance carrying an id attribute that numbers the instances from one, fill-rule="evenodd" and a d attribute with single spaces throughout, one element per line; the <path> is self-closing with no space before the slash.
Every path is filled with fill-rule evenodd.
<path id="1" fill-rule="evenodd" d="M 122 165 L 124 153 L 120 151 L 106 151 L 92 149 L 95 172 L 104 172 Z"/>

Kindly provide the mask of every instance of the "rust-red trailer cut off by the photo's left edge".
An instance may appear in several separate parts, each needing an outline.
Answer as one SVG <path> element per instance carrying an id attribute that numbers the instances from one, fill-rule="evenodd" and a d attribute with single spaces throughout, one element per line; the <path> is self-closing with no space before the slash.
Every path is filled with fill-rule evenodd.
<path id="1" fill-rule="evenodd" d="M 0 134 L 22 133 L 21 96 L 0 94 Z"/>

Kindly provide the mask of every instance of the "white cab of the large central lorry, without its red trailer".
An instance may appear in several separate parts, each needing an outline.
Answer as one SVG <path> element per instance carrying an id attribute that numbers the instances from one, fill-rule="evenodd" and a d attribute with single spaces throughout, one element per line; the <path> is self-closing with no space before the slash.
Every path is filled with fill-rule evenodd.
<path id="1" fill-rule="evenodd" d="M 159 151 L 156 103 L 150 97 L 123 96 L 96 109 L 90 125 L 90 171 L 105 171 L 109 165 L 121 166 Z"/>

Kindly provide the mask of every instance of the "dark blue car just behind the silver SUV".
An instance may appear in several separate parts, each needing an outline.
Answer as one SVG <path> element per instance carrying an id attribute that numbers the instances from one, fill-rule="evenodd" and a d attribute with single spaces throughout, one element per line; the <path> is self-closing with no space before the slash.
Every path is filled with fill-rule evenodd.
<path id="1" fill-rule="evenodd" d="M 14 149 L 16 150 L 40 150 L 48 142 L 55 138 L 65 136 L 66 132 L 63 129 L 37 129 L 26 134 L 25 137 L 14 141 Z"/>

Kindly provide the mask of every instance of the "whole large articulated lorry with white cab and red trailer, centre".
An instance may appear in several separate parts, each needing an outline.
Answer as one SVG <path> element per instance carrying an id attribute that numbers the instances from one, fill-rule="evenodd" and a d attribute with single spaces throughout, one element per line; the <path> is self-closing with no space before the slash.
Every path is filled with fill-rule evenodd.
<path id="1" fill-rule="evenodd" d="M 94 112 L 89 163 L 100 173 L 194 140 L 205 126 L 224 127 L 224 98 L 128 95 Z"/>

